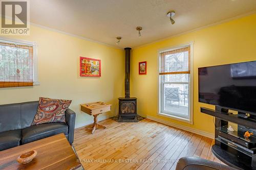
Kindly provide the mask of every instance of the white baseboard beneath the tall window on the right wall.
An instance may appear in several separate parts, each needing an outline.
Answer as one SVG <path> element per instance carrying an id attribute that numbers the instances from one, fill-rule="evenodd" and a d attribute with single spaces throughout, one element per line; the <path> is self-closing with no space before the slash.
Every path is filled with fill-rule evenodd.
<path id="1" fill-rule="evenodd" d="M 168 122 L 168 121 L 162 120 L 160 118 L 156 118 L 156 117 L 152 117 L 152 116 L 148 116 L 148 115 L 146 116 L 146 118 L 154 120 L 154 121 L 162 123 L 162 124 L 165 124 L 165 125 L 169 125 L 169 126 L 172 126 L 172 127 L 175 127 L 175 128 L 179 128 L 179 129 L 182 129 L 182 130 L 185 130 L 185 131 L 188 131 L 188 132 L 196 133 L 196 134 L 199 134 L 199 135 L 211 138 L 211 139 L 215 138 L 214 134 L 204 132 L 204 131 L 201 131 L 201 130 L 197 130 L 197 129 L 194 129 L 194 128 L 189 128 L 189 127 L 179 125 L 179 124 L 175 124 L 175 123 L 172 123 L 172 122 Z"/>

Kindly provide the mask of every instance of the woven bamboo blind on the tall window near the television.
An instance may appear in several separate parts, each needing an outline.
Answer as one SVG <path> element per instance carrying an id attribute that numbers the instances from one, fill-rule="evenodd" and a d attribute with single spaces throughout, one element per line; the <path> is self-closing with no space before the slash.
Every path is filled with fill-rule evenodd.
<path id="1" fill-rule="evenodd" d="M 190 47 L 160 53 L 159 75 L 190 74 Z"/>

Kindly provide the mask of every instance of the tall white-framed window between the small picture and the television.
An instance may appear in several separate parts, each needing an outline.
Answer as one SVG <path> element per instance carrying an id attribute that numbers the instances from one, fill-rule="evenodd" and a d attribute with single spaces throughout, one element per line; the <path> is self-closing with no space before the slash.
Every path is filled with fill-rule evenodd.
<path id="1" fill-rule="evenodd" d="M 190 122 L 190 45 L 160 52 L 159 112 Z"/>

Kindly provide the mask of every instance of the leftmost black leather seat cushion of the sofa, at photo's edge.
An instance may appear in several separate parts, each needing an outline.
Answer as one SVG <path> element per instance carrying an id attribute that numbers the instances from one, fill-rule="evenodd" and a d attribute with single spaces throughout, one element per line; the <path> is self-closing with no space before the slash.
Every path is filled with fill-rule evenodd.
<path id="1" fill-rule="evenodd" d="M 21 139 L 22 130 L 12 130 L 0 133 L 0 151 L 17 147 Z"/>

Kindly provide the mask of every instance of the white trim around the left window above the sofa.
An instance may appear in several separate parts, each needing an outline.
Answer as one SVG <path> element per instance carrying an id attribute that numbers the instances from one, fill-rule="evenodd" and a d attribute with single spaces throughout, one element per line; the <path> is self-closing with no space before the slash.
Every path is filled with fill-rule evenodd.
<path id="1" fill-rule="evenodd" d="M 37 43 L 35 41 L 16 40 L 9 38 L 0 37 L 0 42 L 4 43 L 15 43 L 19 45 L 30 45 L 33 46 L 33 85 L 40 85 L 38 79 L 38 58 L 37 58 Z"/>

